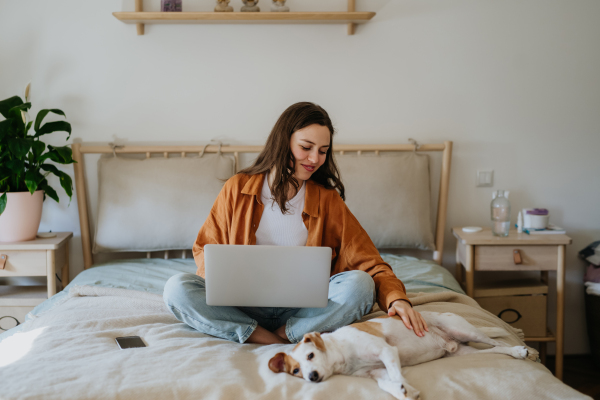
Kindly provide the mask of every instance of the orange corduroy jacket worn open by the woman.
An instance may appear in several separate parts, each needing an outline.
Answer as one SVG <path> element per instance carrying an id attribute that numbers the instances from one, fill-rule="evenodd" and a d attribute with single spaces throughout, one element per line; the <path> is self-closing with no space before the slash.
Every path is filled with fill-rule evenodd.
<path id="1" fill-rule="evenodd" d="M 260 194 L 265 174 L 237 174 L 226 183 L 194 243 L 197 275 L 204 278 L 204 245 L 256 244 L 256 230 L 264 210 Z M 331 276 L 361 270 L 375 282 L 377 303 L 387 310 L 396 300 L 410 301 L 404 284 L 385 263 L 367 232 L 335 189 L 306 181 L 302 219 L 308 229 L 307 246 L 332 249 Z"/>

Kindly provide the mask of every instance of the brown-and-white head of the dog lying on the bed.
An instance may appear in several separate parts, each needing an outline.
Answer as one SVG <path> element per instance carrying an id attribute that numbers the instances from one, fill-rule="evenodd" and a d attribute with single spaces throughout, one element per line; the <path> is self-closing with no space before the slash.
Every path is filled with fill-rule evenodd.
<path id="1" fill-rule="evenodd" d="M 290 354 L 277 353 L 269 360 L 269 368 L 273 372 L 287 372 L 310 382 L 321 382 L 333 374 L 325 343 L 318 332 L 304 335 Z"/>

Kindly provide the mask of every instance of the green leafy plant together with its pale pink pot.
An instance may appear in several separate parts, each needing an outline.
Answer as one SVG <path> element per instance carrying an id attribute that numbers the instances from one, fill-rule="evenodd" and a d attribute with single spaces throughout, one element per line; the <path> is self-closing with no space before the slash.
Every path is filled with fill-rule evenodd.
<path id="1" fill-rule="evenodd" d="M 25 102 L 19 96 L 0 101 L 0 242 L 33 240 L 42 218 L 42 202 L 46 196 L 58 202 L 56 191 L 48 184 L 49 174 L 60 179 L 69 196 L 73 195 L 71 177 L 49 161 L 71 164 L 75 161 L 68 146 L 46 146 L 41 136 L 52 132 L 67 132 L 71 124 L 66 121 L 46 122 L 49 114 L 65 116 L 61 110 L 41 110 L 35 121 L 28 119 L 29 86 Z M 33 128 L 33 131 L 31 130 Z"/>

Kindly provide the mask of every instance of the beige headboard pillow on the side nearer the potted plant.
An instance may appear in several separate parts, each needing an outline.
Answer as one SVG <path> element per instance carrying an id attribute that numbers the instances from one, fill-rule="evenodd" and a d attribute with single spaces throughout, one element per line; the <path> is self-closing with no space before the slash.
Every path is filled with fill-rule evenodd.
<path id="1" fill-rule="evenodd" d="M 94 253 L 191 249 L 232 157 L 110 157 L 98 161 Z"/>

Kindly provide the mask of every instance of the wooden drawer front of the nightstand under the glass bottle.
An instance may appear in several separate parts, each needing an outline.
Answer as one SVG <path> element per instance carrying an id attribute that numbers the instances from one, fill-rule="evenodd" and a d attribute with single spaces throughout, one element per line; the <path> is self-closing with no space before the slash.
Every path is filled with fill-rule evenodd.
<path id="1" fill-rule="evenodd" d="M 519 250 L 522 263 L 515 264 Z M 557 246 L 474 246 L 476 271 L 554 271 L 558 265 Z"/>

